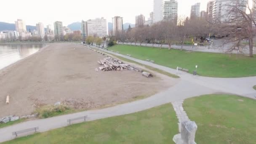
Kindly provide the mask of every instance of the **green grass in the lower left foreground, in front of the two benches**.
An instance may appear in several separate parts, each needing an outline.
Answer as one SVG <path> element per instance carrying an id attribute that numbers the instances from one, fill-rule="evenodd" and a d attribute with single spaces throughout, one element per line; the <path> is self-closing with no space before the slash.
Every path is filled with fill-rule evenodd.
<path id="1" fill-rule="evenodd" d="M 109 117 L 3 144 L 173 144 L 178 120 L 171 104 L 129 115 Z"/>

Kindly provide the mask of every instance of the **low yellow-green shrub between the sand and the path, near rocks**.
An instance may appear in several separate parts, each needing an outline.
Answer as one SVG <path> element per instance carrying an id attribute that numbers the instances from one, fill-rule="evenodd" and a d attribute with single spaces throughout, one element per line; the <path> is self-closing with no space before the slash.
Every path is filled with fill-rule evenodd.
<path id="1" fill-rule="evenodd" d="M 36 112 L 39 114 L 38 117 L 47 118 L 47 117 L 53 117 L 55 115 L 59 115 L 60 113 L 65 112 L 68 109 L 69 107 L 62 104 L 57 106 L 45 105 L 43 107 L 36 109 Z"/>

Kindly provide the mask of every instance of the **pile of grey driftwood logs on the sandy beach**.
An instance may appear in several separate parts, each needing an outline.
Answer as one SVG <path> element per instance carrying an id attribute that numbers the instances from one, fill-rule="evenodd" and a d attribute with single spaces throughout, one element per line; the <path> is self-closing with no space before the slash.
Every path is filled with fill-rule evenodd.
<path id="1" fill-rule="evenodd" d="M 137 72 L 142 72 L 142 75 L 145 77 L 153 77 L 152 74 L 148 72 L 143 72 L 142 69 L 132 67 L 129 64 L 124 64 L 122 61 L 119 61 L 117 59 L 112 59 L 110 57 L 101 59 L 100 61 L 98 61 L 98 63 L 101 65 L 99 69 L 104 72 L 105 71 L 122 71 L 122 70 L 128 69 L 128 70 L 133 70 Z"/>

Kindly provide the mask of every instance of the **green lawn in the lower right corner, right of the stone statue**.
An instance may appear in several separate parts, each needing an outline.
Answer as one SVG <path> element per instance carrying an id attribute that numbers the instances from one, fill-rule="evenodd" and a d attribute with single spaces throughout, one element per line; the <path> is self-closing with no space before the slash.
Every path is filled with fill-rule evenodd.
<path id="1" fill-rule="evenodd" d="M 197 123 L 197 144 L 255 144 L 256 101 L 240 96 L 208 95 L 184 101 Z"/>

